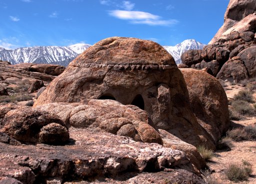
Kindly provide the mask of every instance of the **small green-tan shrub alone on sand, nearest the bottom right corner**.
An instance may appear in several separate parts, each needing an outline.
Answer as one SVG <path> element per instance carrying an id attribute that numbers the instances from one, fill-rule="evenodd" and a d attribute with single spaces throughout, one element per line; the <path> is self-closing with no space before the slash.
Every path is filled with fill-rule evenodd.
<path id="1" fill-rule="evenodd" d="M 244 181 L 249 178 L 249 175 L 252 173 L 251 164 L 248 162 L 242 162 L 241 165 L 238 164 L 230 164 L 225 171 L 225 175 L 228 180 L 239 182 Z"/>

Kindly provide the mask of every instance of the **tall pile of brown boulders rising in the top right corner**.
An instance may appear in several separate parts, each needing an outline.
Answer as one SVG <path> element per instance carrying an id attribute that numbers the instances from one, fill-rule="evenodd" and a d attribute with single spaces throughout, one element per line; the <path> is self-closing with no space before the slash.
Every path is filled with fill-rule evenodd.
<path id="1" fill-rule="evenodd" d="M 240 81 L 256 76 L 256 0 L 230 0 L 224 24 L 202 50 L 181 55 L 183 65 L 206 68 L 216 78 Z"/>

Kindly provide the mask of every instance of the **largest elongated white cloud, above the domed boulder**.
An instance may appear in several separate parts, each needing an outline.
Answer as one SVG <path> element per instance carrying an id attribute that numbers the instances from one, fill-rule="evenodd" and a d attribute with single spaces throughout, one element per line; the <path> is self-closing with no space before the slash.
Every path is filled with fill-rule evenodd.
<path id="1" fill-rule="evenodd" d="M 112 10 L 109 15 L 119 19 L 129 20 L 135 24 L 147 25 L 172 25 L 178 23 L 177 20 L 162 20 L 160 16 L 144 11 L 127 11 L 127 10 Z"/>

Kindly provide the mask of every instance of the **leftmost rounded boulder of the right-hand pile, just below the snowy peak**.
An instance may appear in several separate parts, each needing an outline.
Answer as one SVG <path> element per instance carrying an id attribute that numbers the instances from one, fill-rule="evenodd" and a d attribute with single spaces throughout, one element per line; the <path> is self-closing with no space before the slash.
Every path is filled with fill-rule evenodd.
<path id="1" fill-rule="evenodd" d="M 197 64 L 201 62 L 202 50 L 188 50 L 181 54 L 182 63 L 191 66 L 192 64 Z"/>

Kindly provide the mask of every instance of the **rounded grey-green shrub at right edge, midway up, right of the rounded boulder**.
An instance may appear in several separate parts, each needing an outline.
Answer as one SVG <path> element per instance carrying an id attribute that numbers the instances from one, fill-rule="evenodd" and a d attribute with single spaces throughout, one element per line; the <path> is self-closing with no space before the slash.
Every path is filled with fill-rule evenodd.
<path id="1" fill-rule="evenodd" d="M 240 115 L 253 115 L 255 109 L 246 101 L 234 100 L 232 101 L 232 111 Z"/>

